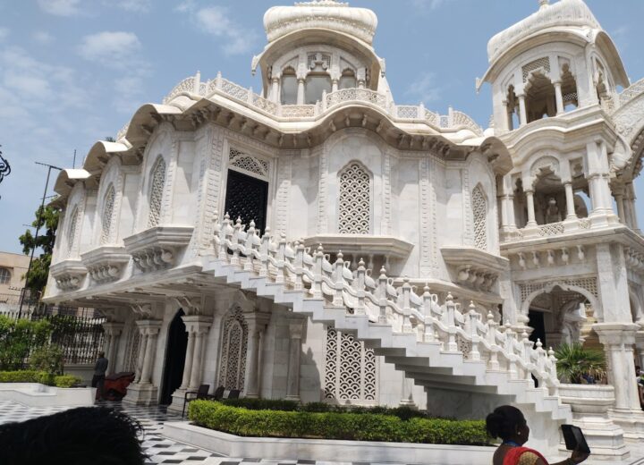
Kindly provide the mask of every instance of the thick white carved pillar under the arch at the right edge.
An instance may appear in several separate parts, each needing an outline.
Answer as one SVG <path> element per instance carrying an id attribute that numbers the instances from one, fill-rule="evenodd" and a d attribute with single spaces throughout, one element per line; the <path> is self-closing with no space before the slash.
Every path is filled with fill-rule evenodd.
<path id="1" fill-rule="evenodd" d="M 640 325 L 632 323 L 597 323 L 592 326 L 604 345 L 608 382 L 614 386 L 615 405 L 610 412 L 614 422 L 623 427 L 624 437 L 644 438 L 644 412 L 635 383 L 633 344 Z"/>

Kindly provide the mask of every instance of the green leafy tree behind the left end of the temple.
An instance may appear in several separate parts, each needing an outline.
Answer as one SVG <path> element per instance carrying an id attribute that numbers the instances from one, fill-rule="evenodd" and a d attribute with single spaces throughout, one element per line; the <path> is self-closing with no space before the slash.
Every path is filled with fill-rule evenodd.
<path id="1" fill-rule="evenodd" d="M 34 247 L 41 249 L 42 252 L 38 258 L 33 259 L 29 275 L 25 276 L 25 287 L 30 289 L 31 295 L 38 295 L 47 285 L 49 265 L 54 251 L 55 232 L 58 228 L 58 216 L 58 210 L 53 207 L 38 207 L 36 219 L 31 224 L 34 228 L 39 228 L 38 239 L 34 240 L 30 230 L 25 231 L 20 237 L 22 251 L 25 255 L 30 255 L 31 249 Z"/>

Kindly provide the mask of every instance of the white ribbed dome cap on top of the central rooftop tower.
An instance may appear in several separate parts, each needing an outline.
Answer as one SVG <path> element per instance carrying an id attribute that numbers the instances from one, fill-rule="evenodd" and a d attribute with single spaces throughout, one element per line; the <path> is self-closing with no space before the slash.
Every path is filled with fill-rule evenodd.
<path id="1" fill-rule="evenodd" d="M 376 28 L 376 13 L 334 0 L 274 6 L 264 15 L 264 29 L 269 42 L 295 30 L 326 29 L 344 32 L 370 45 Z"/>

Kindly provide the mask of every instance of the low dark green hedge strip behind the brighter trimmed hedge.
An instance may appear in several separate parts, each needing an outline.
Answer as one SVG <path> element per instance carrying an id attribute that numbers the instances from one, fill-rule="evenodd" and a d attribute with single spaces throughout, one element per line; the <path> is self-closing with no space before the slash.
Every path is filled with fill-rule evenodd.
<path id="1" fill-rule="evenodd" d="M 403 420 L 409 418 L 429 418 L 427 412 L 411 409 L 410 407 L 356 407 L 334 405 L 326 402 L 300 402 L 272 400 L 272 399 L 222 399 L 219 401 L 231 407 L 242 407 L 248 410 L 281 410 L 281 411 L 308 411 L 317 413 L 372 413 L 379 415 L 391 415 Z"/>

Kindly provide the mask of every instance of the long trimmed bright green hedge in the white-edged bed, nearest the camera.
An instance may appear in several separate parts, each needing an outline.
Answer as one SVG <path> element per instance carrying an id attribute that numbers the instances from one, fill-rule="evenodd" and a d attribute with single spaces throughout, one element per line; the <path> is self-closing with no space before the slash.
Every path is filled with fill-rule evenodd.
<path id="1" fill-rule="evenodd" d="M 422 444 L 489 444 L 482 420 L 410 418 L 349 412 L 249 410 L 193 401 L 188 418 L 199 427 L 242 436 L 301 437 Z"/>

